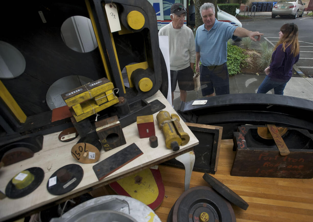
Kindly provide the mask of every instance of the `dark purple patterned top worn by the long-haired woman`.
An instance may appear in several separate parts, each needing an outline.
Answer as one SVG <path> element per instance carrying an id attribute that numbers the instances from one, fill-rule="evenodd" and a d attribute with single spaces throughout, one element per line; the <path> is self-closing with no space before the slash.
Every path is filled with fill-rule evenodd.
<path id="1" fill-rule="evenodd" d="M 269 65 L 269 77 L 274 80 L 288 81 L 292 76 L 292 66 L 298 62 L 300 54 L 294 57 L 290 54 L 290 46 L 283 51 L 283 44 L 277 46 L 272 54 L 272 62 Z"/>

